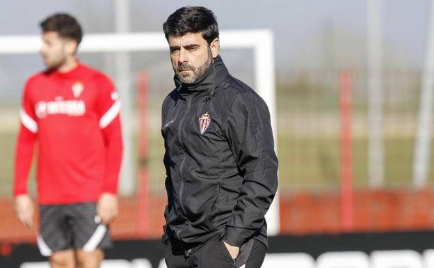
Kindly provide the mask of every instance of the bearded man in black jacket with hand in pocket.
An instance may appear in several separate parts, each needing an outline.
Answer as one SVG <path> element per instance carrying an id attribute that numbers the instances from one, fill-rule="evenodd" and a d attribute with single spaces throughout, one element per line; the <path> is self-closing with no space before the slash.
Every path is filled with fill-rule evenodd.
<path id="1" fill-rule="evenodd" d="M 268 108 L 227 72 L 211 10 L 179 8 L 163 31 L 176 85 L 162 108 L 166 264 L 261 267 L 278 188 Z"/>

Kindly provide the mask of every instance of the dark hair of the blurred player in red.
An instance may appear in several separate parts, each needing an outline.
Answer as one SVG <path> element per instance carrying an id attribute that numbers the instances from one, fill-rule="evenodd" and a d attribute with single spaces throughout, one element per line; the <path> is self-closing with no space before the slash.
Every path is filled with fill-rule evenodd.
<path id="1" fill-rule="evenodd" d="M 66 13 L 56 13 L 44 19 L 40 24 L 42 32 L 55 31 L 62 38 L 70 38 L 77 41 L 77 45 L 83 38 L 83 31 L 77 19 Z"/>

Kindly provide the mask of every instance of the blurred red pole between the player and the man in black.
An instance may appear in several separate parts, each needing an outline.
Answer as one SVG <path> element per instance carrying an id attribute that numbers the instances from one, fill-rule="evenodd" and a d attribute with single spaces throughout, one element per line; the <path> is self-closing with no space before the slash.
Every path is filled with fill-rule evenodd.
<path id="1" fill-rule="evenodd" d="M 148 81 L 146 72 L 139 72 L 137 76 L 137 111 L 138 111 L 138 198 L 137 224 L 138 235 L 147 237 L 150 231 L 149 204 L 149 172 L 147 160 L 149 158 L 149 144 L 147 136 L 147 102 Z"/>

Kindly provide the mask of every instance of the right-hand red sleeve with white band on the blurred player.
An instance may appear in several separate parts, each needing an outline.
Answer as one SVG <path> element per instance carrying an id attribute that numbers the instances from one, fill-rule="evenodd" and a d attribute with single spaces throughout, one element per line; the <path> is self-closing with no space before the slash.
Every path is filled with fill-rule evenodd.
<path id="1" fill-rule="evenodd" d="M 117 194 L 123 150 L 120 101 L 118 100 L 118 93 L 116 93 L 113 83 L 108 77 L 101 77 L 99 85 L 101 88 L 97 113 L 99 113 L 99 128 L 106 148 L 102 192 Z"/>

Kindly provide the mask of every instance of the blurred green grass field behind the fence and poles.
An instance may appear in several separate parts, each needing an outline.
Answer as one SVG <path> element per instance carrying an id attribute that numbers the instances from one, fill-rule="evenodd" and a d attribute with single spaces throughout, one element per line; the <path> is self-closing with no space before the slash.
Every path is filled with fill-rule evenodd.
<path id="1" fill-rule="evenodd" d="M 0 194 L 10 195 L 13 178 L 16 133 L 0 136 Z M 385 179 L 387 187 L 410 187 L 413 140 L 408 137 L 385 139 Z M 135 144 L 135 143 L 134 143 Z M 281 191 L 337 189 L 340 180 L 339 139 L 330 136 L 278 135 Z M 434 148 L 433 148 L 434 150 Z M 163 142 L 159 134 L 150 139 L 149 172 L 151 189 L 163 191 Z M 434 164 L 431 158 L 431 163 Z M 138 161 L 135 167 L 138 166 Z M 431 165 L 433 166 L 433 165 Z M 34 177 L 32 175 L 32 177 Z M 367 139 L 353 140 L 353 178 L 355 187 L 367 182 Z M 434 178 L 433 168 L 429 178 Z M 433 180 L 431 179 L 430 183 Z M 35 189 L 31 179 L 30 189 Z"/>

